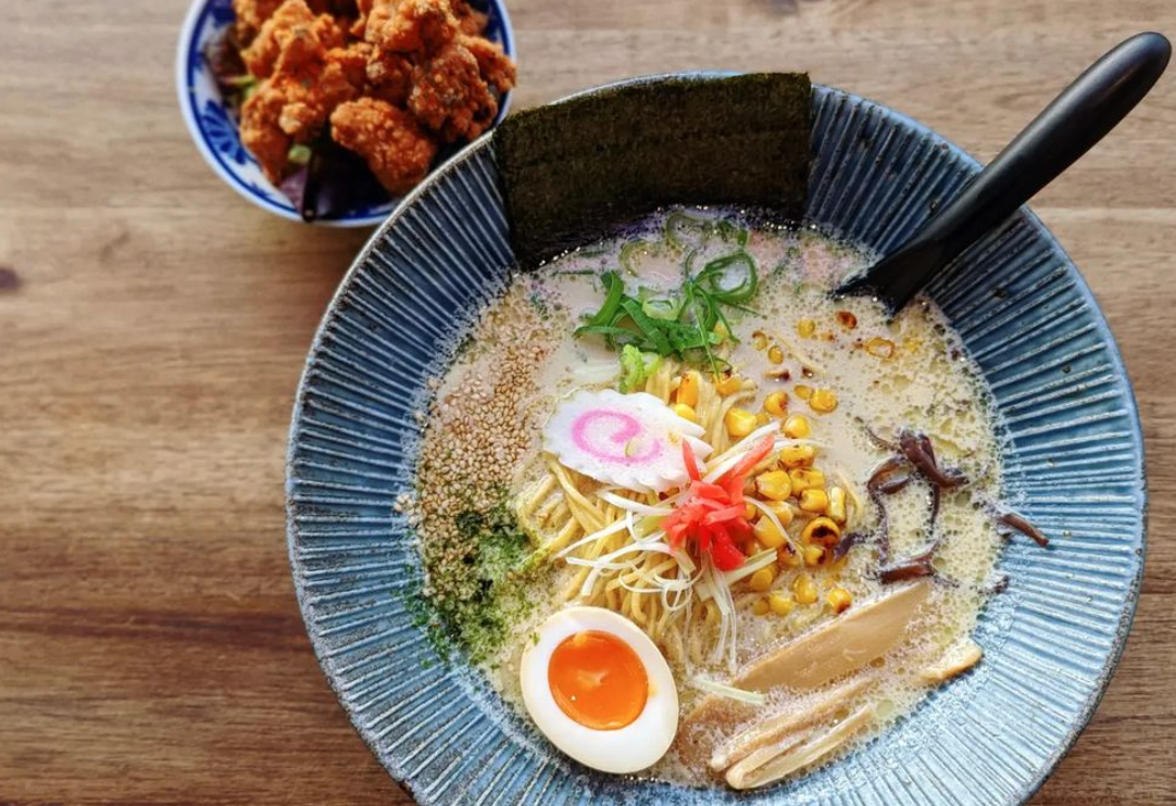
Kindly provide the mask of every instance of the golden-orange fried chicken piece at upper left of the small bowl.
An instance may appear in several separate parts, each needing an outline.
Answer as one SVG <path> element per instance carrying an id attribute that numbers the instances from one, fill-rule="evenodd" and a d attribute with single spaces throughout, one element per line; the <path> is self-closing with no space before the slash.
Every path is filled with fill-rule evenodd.
<path id="1" fill-rule="evenodd" d="M 342 47 L 343 40 L 345 33 L 333 16 L 315 16 L 306 0 L 286 0 L 241 52 L 241 59 L 249 73 L 265 79 L 275 70 L 293 72 L 303 62 L 321 60 L 328 49 Z"/>

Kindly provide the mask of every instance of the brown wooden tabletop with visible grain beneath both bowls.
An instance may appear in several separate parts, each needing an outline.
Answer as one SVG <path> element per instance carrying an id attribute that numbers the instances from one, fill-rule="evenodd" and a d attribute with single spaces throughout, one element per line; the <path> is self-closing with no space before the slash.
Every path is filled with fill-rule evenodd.
<path id="1" fill-rule="evenodd" d="M 0 22 L 0 802 L 395 804 L 302 630 L 282 458 L 367 233 L 276 220 L 196 155 L 185 0 Z M 982 159 L 1171 0 L 512 0 L 520 106 L 637 73 L 804 68 Z M 1035 804 L 1176 801 L 1176 75 L 1035 204 L 1110 320 L 1152 543 L 1105 700 Z"/>

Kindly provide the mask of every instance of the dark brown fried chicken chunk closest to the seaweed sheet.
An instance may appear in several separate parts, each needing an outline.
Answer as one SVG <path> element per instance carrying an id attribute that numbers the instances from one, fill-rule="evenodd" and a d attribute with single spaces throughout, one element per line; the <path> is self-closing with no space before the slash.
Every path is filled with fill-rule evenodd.
<path id="1" fill-rule="evenodd" d="M 482 79 L 477 59 L 456 43 L 413 70 L 408 108 L 446 142 L 473 140 L 499 114 L 497 99 Z"/>

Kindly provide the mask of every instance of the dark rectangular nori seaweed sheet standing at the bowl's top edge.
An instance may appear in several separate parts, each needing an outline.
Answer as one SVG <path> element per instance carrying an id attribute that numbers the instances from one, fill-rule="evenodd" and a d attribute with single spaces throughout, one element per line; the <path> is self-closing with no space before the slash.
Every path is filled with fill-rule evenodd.
<path id="1" fill-rule="evenodd" d="M 494 152 L 520 264 L 666 204 L 767 207 L 799 220 L 809 95 L 803 73 L 668 78 L 512 115 Z"/>

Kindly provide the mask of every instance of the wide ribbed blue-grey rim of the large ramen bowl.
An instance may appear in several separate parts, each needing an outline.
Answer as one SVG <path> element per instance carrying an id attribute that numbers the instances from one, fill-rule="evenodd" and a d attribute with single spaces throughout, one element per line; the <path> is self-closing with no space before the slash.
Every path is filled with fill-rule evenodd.
<path id="1" fill-rule="evenodd" d="M 883 253 L 980 168 L 909 117 L 828 87 L 814 87 L 813 121 L 808 219 Z M 294 409 L 299 600 L 330 685 L 381 763 L 421 804 L 1027 800 L 1098 704 L 1144 550 L 1131 388 L 1053 235 L 1022 210 L 931 289 L 995 395 L 1008 496 L 1056 538 L 1003 552 L 1011 584 L 974 636 L 984 661 L 807 778 L 742 794 L 682 790 L 600 775 L 555 752 L 475 674 L 428 665 L 397 596 L 419 560 L 392 504 L 412 484 L 425 381 L 446 361 L 433 345 L 452 343 L 512 263 L 493 152 L 490 136 L 467 148 L 373 236 L 327 310 Z"/>

